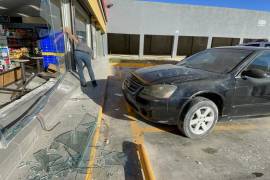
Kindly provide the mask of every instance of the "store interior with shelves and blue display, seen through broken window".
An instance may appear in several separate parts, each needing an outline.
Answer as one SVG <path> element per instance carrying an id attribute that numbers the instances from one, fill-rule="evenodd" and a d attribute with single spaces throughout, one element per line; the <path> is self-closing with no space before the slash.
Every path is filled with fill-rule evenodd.
<path id="1" fill-rule="evenodd" d="M 0 108 L 61 76 L 62 29 L 56 0 L 1 1 Z"/>

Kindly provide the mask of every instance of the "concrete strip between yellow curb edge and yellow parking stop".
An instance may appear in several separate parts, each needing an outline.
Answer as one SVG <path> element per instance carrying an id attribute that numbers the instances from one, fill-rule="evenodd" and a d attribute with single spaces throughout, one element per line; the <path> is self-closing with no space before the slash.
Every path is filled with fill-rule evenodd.
<path id="1" fill-rule="evenodd" d="M 95 164 L 102 161 L 104 150 L 121 154 L 106 167 L 96 168 L 93 179 L 141 180 L 144 179 L 137 144 L 132 133 L 133 120 L 129 118 L 127 106 L 121 93 L 121 79 L 110 77 L 103 111 L 103 123 L 97 147 Z"/>

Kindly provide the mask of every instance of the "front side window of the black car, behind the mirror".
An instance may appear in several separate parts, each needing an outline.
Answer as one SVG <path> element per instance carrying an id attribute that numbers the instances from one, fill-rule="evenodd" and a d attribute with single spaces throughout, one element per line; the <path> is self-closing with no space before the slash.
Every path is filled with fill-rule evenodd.
<path id="1" fill-rule="evenodd" d="M 248 69 L 259 69 L 270 74 L 270 51 L 265 51 L 256 57 Z"/>

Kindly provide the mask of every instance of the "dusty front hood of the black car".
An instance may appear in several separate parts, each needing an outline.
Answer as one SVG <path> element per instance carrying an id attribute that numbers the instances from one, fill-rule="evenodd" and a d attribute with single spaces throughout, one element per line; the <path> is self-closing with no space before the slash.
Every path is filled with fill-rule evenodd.
<path id="1" fill-rule="evenodd" d="M 216 73 L 172 64 L 141 68 L 133 74 L 146 84 L 181 83 L 220 76 Z"/>

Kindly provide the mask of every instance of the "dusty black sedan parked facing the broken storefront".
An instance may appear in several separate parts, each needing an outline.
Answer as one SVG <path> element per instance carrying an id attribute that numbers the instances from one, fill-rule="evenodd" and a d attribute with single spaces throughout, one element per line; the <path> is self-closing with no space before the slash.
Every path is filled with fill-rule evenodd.
<path id="1" fill-rule="evenodd" d="M 126 101 L 146 120 L 203 137 L 217 120 L 270 114 L 270 49 L 221 47 L 176 65 L 142 68 L 122 85 Z"/>

